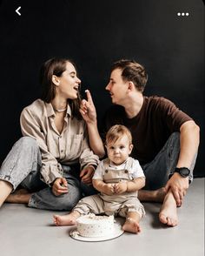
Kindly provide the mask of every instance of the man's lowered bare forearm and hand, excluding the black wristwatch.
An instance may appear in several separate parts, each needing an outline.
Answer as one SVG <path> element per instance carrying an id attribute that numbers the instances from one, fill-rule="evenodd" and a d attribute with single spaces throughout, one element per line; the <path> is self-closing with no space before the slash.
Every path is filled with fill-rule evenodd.
<path id="1" fill-rule="evenodd" d="M 180 154 L 176 167 L 190 168 L 192 161 L 198 151 L 200 128 L 193 120 L 183 123 L 180 127 Z M 188 178 L 183 178 L 175 172 L 169 179 L 165 190 L 171 189 L 176 205 L 182 205 L 182 199 L 188 189 Z"/>

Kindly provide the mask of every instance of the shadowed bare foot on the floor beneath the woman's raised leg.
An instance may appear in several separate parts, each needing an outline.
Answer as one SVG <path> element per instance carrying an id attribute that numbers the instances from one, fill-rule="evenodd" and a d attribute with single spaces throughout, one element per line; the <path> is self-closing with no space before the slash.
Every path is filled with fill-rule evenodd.
<path id="1" fill-rule="evenodd" d="M 31 193 L 26 189 L 22 188 L 13 192 L 9 195 L 5 202 L 12 204 L 28 204 L 30 200 Z"/>

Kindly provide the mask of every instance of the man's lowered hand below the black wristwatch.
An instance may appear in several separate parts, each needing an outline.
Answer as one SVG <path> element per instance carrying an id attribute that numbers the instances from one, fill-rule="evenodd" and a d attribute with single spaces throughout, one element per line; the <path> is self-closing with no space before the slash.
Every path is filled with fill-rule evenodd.
<path id="1" fill-rule="evenodd" d="M 169 179 L 167 185 L 165 185 L 165 191 L 169 189 L 175 197 L 176 205 L 179 207 L 182 205 L 183 197 L 188 190 L 188 178 L 183 178 L 179 173 L 174 173 Z"/>

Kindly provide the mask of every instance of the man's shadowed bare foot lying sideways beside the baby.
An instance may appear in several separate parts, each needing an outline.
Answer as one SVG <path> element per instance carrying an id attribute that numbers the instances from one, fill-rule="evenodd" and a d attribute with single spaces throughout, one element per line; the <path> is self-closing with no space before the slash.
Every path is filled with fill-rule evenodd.
<path id="1" fill-rule="evenodd" d="M 149 190 L 140 190 L 138 192 L 138 199 L 140 201 L 144 202 L 157 202 L 157 203 L 162 203 L 164 198 L 165 198 L 166 192 L 165 188 L 159 188 L 154 191 L 149 191 Z"/>

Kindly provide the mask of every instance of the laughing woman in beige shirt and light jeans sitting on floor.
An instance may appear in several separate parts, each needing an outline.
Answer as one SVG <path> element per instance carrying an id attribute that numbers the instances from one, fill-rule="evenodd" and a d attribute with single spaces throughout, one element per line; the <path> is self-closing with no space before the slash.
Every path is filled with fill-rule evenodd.
<path id="1" fill-rule="evenodd" d="M 79 111 L 81 80 L 74 64 L 62 58 L 45 62 L 40 80 L 42 98 L 23 109 L 24 137 L 13 146 L 0 170 L 0 206 L 6 200 L 70 211 L 81 198 L 82 188 L 89 194 L 98 164 Z M 26 190 L 14 192 L 18 185 Z"/>

